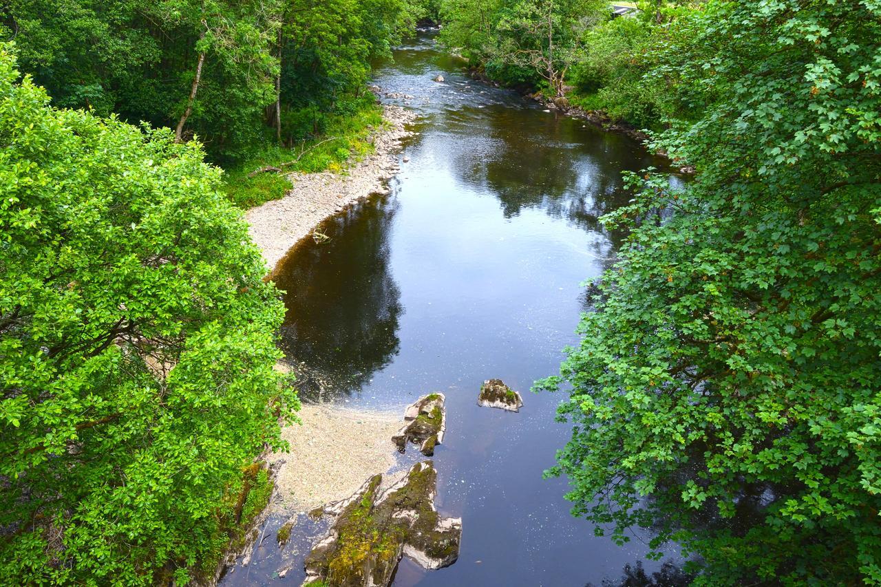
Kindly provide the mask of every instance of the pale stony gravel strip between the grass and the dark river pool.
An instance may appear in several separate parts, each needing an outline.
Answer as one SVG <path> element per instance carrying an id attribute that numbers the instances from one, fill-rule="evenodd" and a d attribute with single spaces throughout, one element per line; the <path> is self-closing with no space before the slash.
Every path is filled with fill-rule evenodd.
<path id="1" fill-rule="evenodd" d="M 388 191 L 387 182 L 399 170 L 395 153 L 401 140 L 413 134 L 404 126 L 416 115 L 406 108 L 385 106 L 383 117 L 388 126 L 374 135 L 374 154 L 355 162 L 344 174 L 288 175 L 293 189 L 285 197 L 252 208 L 245 215 L 251 239 L 263 251 L 270 270 L 323 219 L 362 197 Z"/>

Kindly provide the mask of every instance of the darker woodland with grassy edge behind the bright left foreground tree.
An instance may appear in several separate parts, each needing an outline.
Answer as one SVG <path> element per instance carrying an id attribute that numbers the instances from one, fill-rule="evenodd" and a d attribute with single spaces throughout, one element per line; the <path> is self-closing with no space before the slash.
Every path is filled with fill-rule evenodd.
<path id="1" fill-rule="evenodd" d="M 426 0 L 14 1 L 22 71 L 59 108 L 198 137 L 241 204 L 284 193 L 255 168 L 339 135 L 299 167 L 344 160 L 375 118 L 370 63 L 433 7 Z M 289 152 L 290 151 L 290 152 Z M 285 169 L 286 170 L 286 169 Z M 296 170 L 296 168 L 292 169 Z"/>

